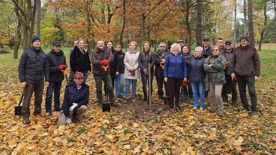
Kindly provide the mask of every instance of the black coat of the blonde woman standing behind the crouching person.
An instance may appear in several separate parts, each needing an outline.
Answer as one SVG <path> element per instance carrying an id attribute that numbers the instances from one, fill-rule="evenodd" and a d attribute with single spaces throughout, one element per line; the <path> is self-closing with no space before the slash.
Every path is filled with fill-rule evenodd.
<path id="1" fill-rule="evenodd" d="M 70 56 L 70 67 L 74 72 L 91 71 L 91 62 L 88 51 L 83 53 L 78 46 L 75 46 Z"/>

